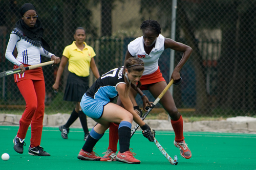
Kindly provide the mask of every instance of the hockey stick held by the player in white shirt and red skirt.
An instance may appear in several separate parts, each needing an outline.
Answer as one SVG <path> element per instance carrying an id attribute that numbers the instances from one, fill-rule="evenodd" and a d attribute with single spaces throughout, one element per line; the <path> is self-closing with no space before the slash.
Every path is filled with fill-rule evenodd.
<path id="1" fill-rule="evenodd" d="M 175 84 L 180 84 L 182 79 L 180 79 L 177 83 Z M 155 102 L 152 104 L 152 107 L 150 107 L 146 113 L 141 117 L 142 120 L 144 120 L 146 118 L 146 116 L 148 115 L 148 113 L 150 113 L 150 111 L 156 106 L 156 104 L 160 101 L 160 99 L 163 97 L 163 95 L 166 93 L 166 91 L 170 88 L 170 86 L 172 86 L 172 84 L 174 83 L 174 80 L 170 80 L 170 82 L 167 84 L 167 86 L 163 89 L 163 91 L 158 95 L 157 99 L 155 100 Z M 139 125 L 137 124 L 132 132 L 131 132 L 131 137 L 133 136 L 133 134 L 136 132 L 136 130 L 139 128 Z"/>

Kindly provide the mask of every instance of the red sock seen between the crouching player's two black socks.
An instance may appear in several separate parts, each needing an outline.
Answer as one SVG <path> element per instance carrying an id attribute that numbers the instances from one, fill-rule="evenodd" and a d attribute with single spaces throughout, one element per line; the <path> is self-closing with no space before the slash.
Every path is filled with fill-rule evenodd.
<path id="1" fill-rule="evenodd" d="M 110 123 L 109 148 L 113 152 L 117 152 L 118 143 L 118 127 L 119 124 Z"/>

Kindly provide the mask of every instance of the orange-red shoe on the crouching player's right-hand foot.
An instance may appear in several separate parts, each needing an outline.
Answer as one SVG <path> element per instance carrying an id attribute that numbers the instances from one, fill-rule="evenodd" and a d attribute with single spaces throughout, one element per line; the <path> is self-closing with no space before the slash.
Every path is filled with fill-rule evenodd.
<path id="1" fill-rule="evenodd" d="M 116 156 L 116 161 L 124 162 L 124 163 L 131 163 L 131 164 L 140 164 L 140 161 L 133 157 L 136 154 L 131 152 L 132 150 L 133 149 L 130 148 L 129 151 L 125 151 L 124 153 L 120 153 L 120 151 L 119 151 Z"/>

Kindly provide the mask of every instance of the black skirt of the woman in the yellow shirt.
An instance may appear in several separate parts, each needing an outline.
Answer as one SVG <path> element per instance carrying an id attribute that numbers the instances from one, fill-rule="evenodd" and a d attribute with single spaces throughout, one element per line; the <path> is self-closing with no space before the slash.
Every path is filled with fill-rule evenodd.
<path id="1" fill-rule="evenodd" d="M 87 91 L 88 88 L 88 77 L 79 77 L 76 74 L 69 72 L 63 100 L 70 102 L 80 102 L 83 94 Z"/>

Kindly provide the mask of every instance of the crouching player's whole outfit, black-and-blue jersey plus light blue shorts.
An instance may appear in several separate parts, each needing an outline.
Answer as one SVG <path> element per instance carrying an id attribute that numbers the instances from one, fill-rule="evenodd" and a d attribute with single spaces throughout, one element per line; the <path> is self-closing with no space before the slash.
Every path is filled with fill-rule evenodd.
<path id="1" fill-rule="evenodd" d="M 83 113 L 95 119 L 102 116 L 104 106 L 118 96 L 117 85 L 125 84 L 122 71 L 123 66 L 114 68 L 93 83 L 80 102 Z"/>

